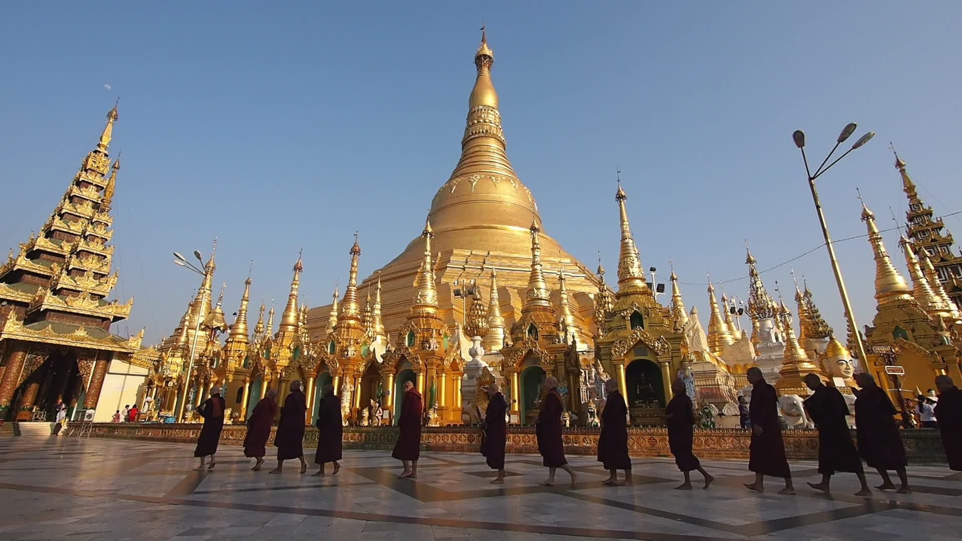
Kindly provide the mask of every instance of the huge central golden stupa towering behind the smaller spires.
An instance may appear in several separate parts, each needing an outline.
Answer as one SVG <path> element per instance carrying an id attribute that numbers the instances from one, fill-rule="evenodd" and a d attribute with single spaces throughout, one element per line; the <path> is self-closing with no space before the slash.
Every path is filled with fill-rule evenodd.
<path id="1" fill-rule="evenodd" d="M 463 323 L 470 306 L 467 287 L 490 296 L 492 270 L 497 272 L 497 298 L 510 328 L 518 321 L 531 271 L 532 221 L 542 226 L 534 195 L 518 178 L 505 150 L 497 92 L 491 78 L 494 52 L 482 33 L 474 55 L 477 78 L 468 97 L 468 120 L 461 141 L 461 159 L 451 176 L 435 194 L 428 220 L 434 230 L 432 247 L 436 262 L 439 315 L 448 324 Z M 419 233 L 419 231 L 412 231 Z M 376 234 L 376 232 L 372 232 Z M 542 261 L 552 300 L 557 301 L 557 276 L 564 271 L 571 306 L 578 316 L 591 320 L 595 275 L 554 239 L 542 234 Z M 390 331 L 403 324 L 415 294 L 415 278 L 423 260 L 423 240 L 414 240 L 390 263 L 375 270 L 358 287 L 373 288 L 380 276 L 383 288 L 383 319 Z M 460 290 L 462 296 L 456 296 Z M 321 336 L 330 305 L 311 310 L 308 326 L 312 338 Z"/>

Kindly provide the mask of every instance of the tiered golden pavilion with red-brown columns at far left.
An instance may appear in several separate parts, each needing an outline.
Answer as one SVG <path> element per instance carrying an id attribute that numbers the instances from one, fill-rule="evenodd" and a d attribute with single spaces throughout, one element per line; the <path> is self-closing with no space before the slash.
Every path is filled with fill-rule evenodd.
<path id="1" fill-rule="evenodd" d="M 58 399 L 93 408 L 112 359 L 151 366 L 142 331 L 110 332 L 134 303 L 108 299 L 118 276 L 110 211 L 120 161 L 111 167 L 107 152 L 116 119 L 114 106 L 60 204 L 0 267 L 0 409 L 9 417 Z"/>

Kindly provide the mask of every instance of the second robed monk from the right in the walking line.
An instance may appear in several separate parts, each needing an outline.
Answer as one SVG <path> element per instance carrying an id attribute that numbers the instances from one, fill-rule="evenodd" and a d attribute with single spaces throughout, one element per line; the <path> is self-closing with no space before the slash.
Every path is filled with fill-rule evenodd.
<path id="1" fill-rule="evenodd" d="M 855 382 L 861 387 L 855 399 L 855 435 L 858 440 L 858 452 L 865 458 L 870 468 L 874 468 L 882 477 L 882 484 L 876 486 L 878 490 L 892 490 L 896 485 L 889 478 L 889 470 L 899 474 L 899 494 L 908 494 L 908 476 L 905 466 L 908 458 L 905 447 L 896 425 L 896 406 L 881 387 L 875 385 L 872 374 L 855 374 Z"/>

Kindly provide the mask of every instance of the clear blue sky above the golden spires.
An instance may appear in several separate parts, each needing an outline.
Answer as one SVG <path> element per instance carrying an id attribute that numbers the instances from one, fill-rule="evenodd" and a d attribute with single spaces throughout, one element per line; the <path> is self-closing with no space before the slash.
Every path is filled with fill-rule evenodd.
<path id="1" fill-rule="evenodd" d="M 890 206 L 903 221 L 889 141 L 937 213 L 962 210 L 958 2 L 21 2 L 4 19 L 0 246 L 42 224 L 120 96 L 115 291 L 137 302 L 114 330 L 147 325 L 148 342 L 198 283 L 170 252 L 206 254 L 215 234 L 228 315 L 250 259 L 253 303 L 283 307 L 303 247 L 315 306 L 343 284 L 355 229 L 362 275 L 399 253 L 457 161 L 482 21 L 545 231 L 614 269 L 617 165 L 643 264 L 667 278 L 673 257 L 705 317 L 705 270 L 744 276 L 746 239 L 762 269 L 822 242 L 797 128 L 813 155 L 849 121 L 877 134 L 820 181 L 836 238 L 865 232 L 856 186 L 880 227 Z M 871 249 L 838 251 L 869 323 Z M 844 333 L 824 250 L 791 266 Z M 789 266 L 763 278 L 791 284 Z"/>

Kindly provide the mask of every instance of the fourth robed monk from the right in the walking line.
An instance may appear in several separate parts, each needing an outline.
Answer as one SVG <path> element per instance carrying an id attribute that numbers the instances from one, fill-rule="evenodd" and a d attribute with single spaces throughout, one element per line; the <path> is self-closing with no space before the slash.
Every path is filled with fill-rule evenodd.
<path id="1" fill-rule="evenodd" d="M 765 476 L 782 477 L 785 488 L 778 494 L 795 494 L 792 484 L 792 471 L 785 457 L 785 444 L 778 425 L 778 400 L 775 388 L 765 381 L 758 367 L 751 367 L 745 373 L 751 384 L 751 401 L 748 415 L 751 416 L 751 443 L 748 446 L 748 470 L 755 473 L 755 482 L 745 483 L 748 490 L 763 492 Z"/>

